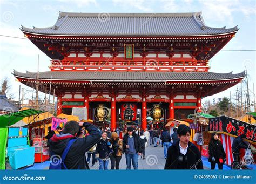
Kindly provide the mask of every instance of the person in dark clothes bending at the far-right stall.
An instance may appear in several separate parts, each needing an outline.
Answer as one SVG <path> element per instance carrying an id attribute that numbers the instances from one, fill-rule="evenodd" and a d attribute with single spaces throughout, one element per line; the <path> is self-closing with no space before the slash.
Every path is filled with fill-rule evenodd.
<path id="1" fill-rule="evenodd" d="M 232 143 L 232 153 L 234 156 L 234 160 L 240 162 L 240 149 L 244 148 L 247 149 L 248 145 L 244 141 L 246 138 L 245 134 L 240 135 L 239 137 L 235 138 Z"/>

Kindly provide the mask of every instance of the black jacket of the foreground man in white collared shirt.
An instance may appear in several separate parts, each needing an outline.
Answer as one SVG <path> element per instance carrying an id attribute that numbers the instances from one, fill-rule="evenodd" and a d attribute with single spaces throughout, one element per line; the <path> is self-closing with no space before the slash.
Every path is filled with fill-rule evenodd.
<path id="1" fill-rule="evenodd" d="M 201 153 L 192 142 L 188 142 L 187 153 L 185 155 L 187 156 L 186 164 L 179 162 L 179 156 L 183 156 L 180 153 L 179 144 L 170 146 L 167 151 L 164 169 L 203 169 Z"/>

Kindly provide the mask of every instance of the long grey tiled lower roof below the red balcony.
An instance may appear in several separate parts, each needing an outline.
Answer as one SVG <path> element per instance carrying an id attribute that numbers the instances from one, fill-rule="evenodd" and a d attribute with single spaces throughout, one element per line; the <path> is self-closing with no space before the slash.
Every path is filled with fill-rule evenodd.
<path id="1" fill-rule="evenodd" d="M 14 70 L 15 77 L 36 79 L 36 72 L 21 73 Z M 244 78 L 245 72 L 82 72 L 82 71 L 48 71 L 39 72 L 39 79 L 49 80 L 90 80 L 90 81 L 210 81 Z"/>

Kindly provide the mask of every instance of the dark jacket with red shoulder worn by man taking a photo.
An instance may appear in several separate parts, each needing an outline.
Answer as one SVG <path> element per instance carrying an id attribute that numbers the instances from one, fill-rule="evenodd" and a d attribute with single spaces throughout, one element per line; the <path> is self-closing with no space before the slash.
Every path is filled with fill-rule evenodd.
<path id="1" fill-rule="evenodd" d="M 85 152 L 95 145 L 101 134 L 94 125 L 84 122 L 83 127 L 88 131 L 90 135 L 84 138 L 75 138 L 71 134 L 53 135 L 50 140 L 50 155 L 53 154 L 61 156 L 69 140 L 76 139 L 70 147 L 70 151 L 66 155 L 64 163 L 68 169 L 86 169 L 86 157 Z"/>

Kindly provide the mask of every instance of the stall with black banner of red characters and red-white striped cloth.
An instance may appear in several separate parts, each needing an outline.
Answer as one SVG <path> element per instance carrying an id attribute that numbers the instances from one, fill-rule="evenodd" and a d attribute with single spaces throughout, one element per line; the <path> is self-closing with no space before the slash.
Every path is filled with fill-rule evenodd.
<path id="1" fill-rule="evenodd" d="M 220 140 L 223 143 L 223 147 L 227 155 L 227 165 L 231 165 L 234 161 L 231 147 L 235 137 L 245 134 L 246 141 L 250 142 L 250 144 L 252 144 L 254 147 L 256 146 L 256 126 L 253 124 L 223 115 L 220 117 L 210 118 L 208 130 L 211 133 L 217 132 L 221 134 Z M 242 158 L 244 155 L 245 149 L 241 149 L 240 158 Z M 252 154 L 252 157 L 255 158 L 255 155 Z"/>

